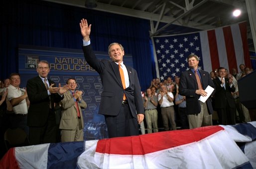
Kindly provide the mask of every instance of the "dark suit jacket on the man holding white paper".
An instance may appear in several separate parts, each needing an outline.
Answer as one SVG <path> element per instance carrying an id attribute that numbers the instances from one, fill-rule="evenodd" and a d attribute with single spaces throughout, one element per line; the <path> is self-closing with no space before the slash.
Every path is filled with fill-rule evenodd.
<path id="1" fill-rule="evenodd" d="M 199 70 L 199 72 L 202 77 L 203 89 L 205 90 L 208 85 L 215 89 L 215 86 L 209 73 L 204 70 Z M 179 94 L 181 96 L 186 96 L 186 106 L 188 114 L 197 114 L 201 112 L 201 106 L 198 100 L 201 95 L 197 95 L 196 90 L 198 90 L 198 85 L 196 81 L 196 76 L 192 72 L 192 70 L 189 69 L 187 71 L 182 72 L 179 82 Z M 212 95 L 213 94 L 214 92 L 212 93 Z M 206 101 L 209 114 L 213 113 L 211 96 Z"/>

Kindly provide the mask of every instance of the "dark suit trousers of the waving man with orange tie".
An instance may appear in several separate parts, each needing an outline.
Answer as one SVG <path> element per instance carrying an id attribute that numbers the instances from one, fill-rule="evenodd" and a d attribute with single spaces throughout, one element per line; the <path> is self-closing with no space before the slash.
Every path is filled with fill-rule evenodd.
<path id="1" fill-rule="evenodd" d="M 122 105 L 118 115 L 105 115 L 109 138 L 138 135 L 137 119 L 132 117 L 128 104 Z"/>

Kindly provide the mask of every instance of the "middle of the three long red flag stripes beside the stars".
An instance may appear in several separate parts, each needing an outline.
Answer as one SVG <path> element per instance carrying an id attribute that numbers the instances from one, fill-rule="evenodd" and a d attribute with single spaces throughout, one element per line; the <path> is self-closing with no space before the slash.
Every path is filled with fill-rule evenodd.
<path id="1" fill-rule="evenodd" d="M 237 58 L 236 58 L 236 53 L 235 53 L 235 48 L 233 43 L 231 27 L 230 26 L 224 27 L 223 34 L 224 34 L 227 58 L 229 63 L 229 67 L 225 67 L 225 68 L 227 68 L 228 70 L 232 70 L 232 68 L 237 67 Z"/>

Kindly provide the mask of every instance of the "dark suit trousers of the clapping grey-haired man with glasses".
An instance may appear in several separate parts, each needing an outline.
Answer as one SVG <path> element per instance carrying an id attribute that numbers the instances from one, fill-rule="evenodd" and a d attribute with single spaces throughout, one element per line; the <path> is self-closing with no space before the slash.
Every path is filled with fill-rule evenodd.
<path id="1" fill-rule="evenodd" d="M 30 145 L 56 142 L 56 117 L 54 109 L 49 110 L 47 122 L 42 127 L 29 127 Z"/>

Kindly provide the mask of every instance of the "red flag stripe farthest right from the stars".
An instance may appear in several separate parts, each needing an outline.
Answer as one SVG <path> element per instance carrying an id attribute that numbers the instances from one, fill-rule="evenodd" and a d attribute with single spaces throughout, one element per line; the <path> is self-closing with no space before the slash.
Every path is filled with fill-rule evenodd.
<path id="1" fill-rule="evenodd" d="M 248 41 L 247 41 L 247 22 L 240 23 L 239 29 L 240 29 L 241 39 L 243 43 L 245 65 L 247 67 L 252 67 L 252 62 L 251 62 L 249 48 L 248 48 Z"/>

